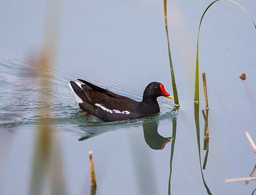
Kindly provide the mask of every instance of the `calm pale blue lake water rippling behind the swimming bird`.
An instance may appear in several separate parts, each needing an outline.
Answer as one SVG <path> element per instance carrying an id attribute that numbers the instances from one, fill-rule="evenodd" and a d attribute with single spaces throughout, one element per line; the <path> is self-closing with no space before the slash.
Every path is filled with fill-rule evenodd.
<path id="1" fill-rule="evenodd" d="M 179 112 L 172 112 L 171 99 L 160 97 L 161 111 L 156 116 L 104 123 L 82 113 L 68 82 L 84 79 L 141 101 L 147 84 L 157 81 L 172 94 L 163 2 L 57 2 L 57 52 L 49 75 L 52 100 L 47 102 L 51 112 L 44 116 L 41 85 L 36 77 L 38 71 L 43 71 L 31 61 L 40 53 L 47 34 L 49 6 L 46 1 L 2 1 L 0 194 L 30 193 L 36 146 L 42 133 L 39 121 L 43 117 L 51 120 L 50 135 L 58 148 L 54 153 L 57 155 L 53 155 L 58 156 L 55 169 L 60 169 L 62 175 L 55 177 L 63 180 L 66 194 L 90 194 L 89 151 L 94 160 L 97 194 L 168 194 L 172 142 L 162 150 L 156 148 L 159 139 L 172 137 L 173 119 L 177 129 L 171 194 L 207 194 L 193 101 L 198 26 L 211 2 L 168 1 Z M 236 2 L 256 21 L 255 1 Z M 224 179 L 249 177 L 256 163 L 244 134 L 248 131 L 256 142 L 255 52 L 256 30 L 246 12 L 225 0 L 213 4 L 204 16 L 199 37 L 200 110 L 205 108 L 202 72 L 206 73 L 211 108 L 209 154 L 202 172 L 212 194 L 253 194 L 256 188 L 255 181 L 224 183 Z M 247 77 L 242 82 L 239 75 L 244 72 Z M 201 111 L 199 116 L 203 165 Z M 51 194 L 54 176 L 50 170 L 45 169 L 41 194 Z"/>

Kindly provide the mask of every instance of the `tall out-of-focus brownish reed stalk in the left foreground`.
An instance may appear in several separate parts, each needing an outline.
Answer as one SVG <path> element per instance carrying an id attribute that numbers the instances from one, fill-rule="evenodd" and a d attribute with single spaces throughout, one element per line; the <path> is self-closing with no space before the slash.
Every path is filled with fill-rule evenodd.
<path id="1" fill-rule="evenodd" d="M 44 41 L 41 53 L 33 65 L 37 70 L 38 88 L 38 135 L 34 148 L 30 192 L 45 192 L 45 180 L 50 181 L 52 194 L 65 195 L 65 181 L 61 162 L 58 135 L 54 134 L 52 119 L 52 69 L 56 58 L 60 24 L 60 0 L 48 0 L 46 8 Z"/>

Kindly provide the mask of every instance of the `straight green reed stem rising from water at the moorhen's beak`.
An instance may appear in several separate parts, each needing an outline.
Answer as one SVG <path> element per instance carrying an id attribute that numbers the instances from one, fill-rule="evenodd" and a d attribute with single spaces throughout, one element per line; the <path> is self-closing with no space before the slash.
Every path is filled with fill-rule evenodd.
<path id="1" fill-rule="evenodd" d="M 179 108 L 179 98 L 178 98 L 178 92 L 177 87 L 175 83 L 175 77 L 174 77 L 174 70 L 172 66 L 172 56 L 171 56 L 171 49 L 170 49 L 170 42 L 169 42 L 169 34 L 168 34 L 168 22 L 167 22 L 167 0 L 164 0 L 164 21 L 165 21 L 165 31 L 166 31 L 166 37 L 167 37 L 167 44 L 168 44 L 168 54 L 169 54 L 169 61 L 170 61 L 170 69 L 171 69 L 171 77 L 172 77 L 172 91 L 173 91 L 173 99 L 174 99 L 174 105 Z"/>

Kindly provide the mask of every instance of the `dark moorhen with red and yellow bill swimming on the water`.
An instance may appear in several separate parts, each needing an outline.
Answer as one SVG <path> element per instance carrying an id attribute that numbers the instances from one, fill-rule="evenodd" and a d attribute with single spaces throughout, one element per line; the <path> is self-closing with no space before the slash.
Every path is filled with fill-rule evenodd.
<path id="1" fill-rule="evenodd" d="M 77 79 L 79 82 L 70 81 L 70 89 L 76 97 L 78 105 L 83 111 L 105 121 L 118 121 L 145 117 L 160 112 L 159 96 L 171 98 L 172 96 L 164 89 L 164 85 L 157 82 L 149 83 L 143 93 L 141 102 L 131 98 L 120 96 L 109 90 L 100 88 L 92 83 Z"/>

